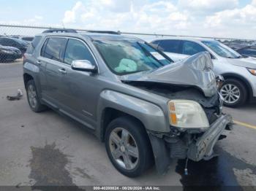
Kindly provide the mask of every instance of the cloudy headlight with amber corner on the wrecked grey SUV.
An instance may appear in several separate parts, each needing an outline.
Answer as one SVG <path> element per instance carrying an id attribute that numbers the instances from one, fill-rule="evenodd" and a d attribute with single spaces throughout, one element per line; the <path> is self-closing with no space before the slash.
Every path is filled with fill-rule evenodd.
<path id="1" fill-rule="evenodd" d="M 195 101 L 172 100 L 168 104 L 170 125 L 178 128 L 208 128 L 203 108 Z"/>

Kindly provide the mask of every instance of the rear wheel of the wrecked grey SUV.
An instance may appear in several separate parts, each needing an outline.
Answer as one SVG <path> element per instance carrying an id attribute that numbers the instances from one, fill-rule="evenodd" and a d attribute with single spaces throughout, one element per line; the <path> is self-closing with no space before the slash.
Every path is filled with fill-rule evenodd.
<path id="1" fill-rule="evenodd" d="M 45 109 L 47 109 L 47 106 L 41 104 L 37 96 L 37 87 L 33 79 L 29 80 L 29 82 L 26 83 L 26 95 L 28 98 L 29 106 L 32 111 L 42 112 L 45 111 Z"/>

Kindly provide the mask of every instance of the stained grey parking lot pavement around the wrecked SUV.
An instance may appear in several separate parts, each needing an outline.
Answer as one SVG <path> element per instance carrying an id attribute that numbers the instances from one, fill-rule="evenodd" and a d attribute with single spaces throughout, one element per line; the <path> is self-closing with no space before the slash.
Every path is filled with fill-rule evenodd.
<path id="1" fill-rule="evenodd" d="M 7 95 L 23 90 L 19 101 Z M 238 125 L 218 141 L 219 157 L 194 163 L 173 160 L 165 175 L 151 168 L 136 179 L 116 171 L 105 145 L 85 128 L 52 110 L 34 113 L 26 101 L 22 63 L 0 63 L 0 185 L 256 185 L 256 104 L 227 109 Z M 249 187 L 255 189 L 255 187 Z"/>

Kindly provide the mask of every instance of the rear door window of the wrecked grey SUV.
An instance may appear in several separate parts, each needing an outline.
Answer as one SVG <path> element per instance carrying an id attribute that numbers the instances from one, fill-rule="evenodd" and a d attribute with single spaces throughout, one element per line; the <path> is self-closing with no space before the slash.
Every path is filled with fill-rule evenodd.
<path id="1" fill-rule="evenodd" d="M 53 61 L 63 62 L 67 39 L 50 37 L 42 47 L 41 55 Z"/>

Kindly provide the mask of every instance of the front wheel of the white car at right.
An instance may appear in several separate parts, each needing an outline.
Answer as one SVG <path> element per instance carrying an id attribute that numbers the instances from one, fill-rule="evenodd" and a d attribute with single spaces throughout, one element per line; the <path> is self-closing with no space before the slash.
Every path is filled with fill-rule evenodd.
<path id="1" fill-rule="evenodd" d="M 220 94 L 225 106 L 238 107 L 245 104 L 248 92 L 244 83 L 238 79 L 226 79 L 220 88 Z"/>

